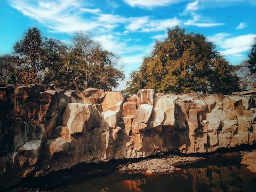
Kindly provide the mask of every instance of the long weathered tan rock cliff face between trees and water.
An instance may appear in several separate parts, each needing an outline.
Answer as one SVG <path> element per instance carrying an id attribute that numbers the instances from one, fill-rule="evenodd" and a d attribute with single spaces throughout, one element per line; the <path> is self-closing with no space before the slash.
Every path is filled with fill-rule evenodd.
<path id="1" fill-rule="evenodd" d="M 253 95 L 163 95 L 140 90 L 0 87 L 0 172 L 26 177 L 78 163 L 180 151 L 207 153 L 256 140 Z M 12 123 L 14 122 L 14 123 Z"/>

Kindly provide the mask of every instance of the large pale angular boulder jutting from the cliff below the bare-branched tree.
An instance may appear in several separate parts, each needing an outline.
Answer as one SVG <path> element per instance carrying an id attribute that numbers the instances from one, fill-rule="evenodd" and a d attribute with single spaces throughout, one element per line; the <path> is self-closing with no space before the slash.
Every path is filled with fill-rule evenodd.
<path id="1" fill-rule="evenodd" d="M 95 119 L 94 113 L 91 104 L 69 103 L 63 114 L 63 126 L 66 126 L 71 134 L 86 133 L 99 121 Z"/>

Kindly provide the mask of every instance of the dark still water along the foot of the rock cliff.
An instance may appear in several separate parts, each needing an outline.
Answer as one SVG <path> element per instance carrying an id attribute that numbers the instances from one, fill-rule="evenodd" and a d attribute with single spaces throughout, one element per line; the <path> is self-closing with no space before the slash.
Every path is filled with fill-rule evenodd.
<path id="1" fill-rule="evenodd" d="M 240 159 L 207 160 L 181 166 L 165 175 L 127 174 L 117 171 L 83 176 L 82 170 L 22 182 L 16 186 L 57 191 L 256 191 L 256 174 L 240 165 Z M 73 172 L 73 174 L 71 174 Z"/>

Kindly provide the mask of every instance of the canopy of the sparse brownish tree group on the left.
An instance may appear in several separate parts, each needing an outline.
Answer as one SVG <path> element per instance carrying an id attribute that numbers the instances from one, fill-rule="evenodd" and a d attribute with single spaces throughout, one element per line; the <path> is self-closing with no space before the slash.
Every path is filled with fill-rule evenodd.
<path id="1" fill-rule="evenodd" d="M 111 90 L 124 78 L 115 68 L 117 57 L 103 50 L 88 35 L 77 33 L 73 44 L 41 37 L 37 28 L 28 29 L 22 40 L 14 45 L 14 55 L 1 57 L 1 79 L 12 83 L 54 83 L 56 88 L 84 90 L 88 87 Z M 6 62 L 12 60 L 12 69 Z M 15 66 L 15 67 L 14 67 Z M 12 71 L 12 73 L 10 72 Z M 9 81 L 8 81 L 9 82 Z"/>

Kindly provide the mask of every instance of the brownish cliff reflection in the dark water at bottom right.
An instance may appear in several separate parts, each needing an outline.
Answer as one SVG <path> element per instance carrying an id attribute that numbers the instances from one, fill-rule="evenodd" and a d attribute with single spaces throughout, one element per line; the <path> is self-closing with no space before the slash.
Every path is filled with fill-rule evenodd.
<path id="1" fill-rule="evenodd" d="M 208 165 L 183 169 L 181 175 L 191 180 L 192 191 L 255 191 L 255 174 L 243 166 Z"/>

